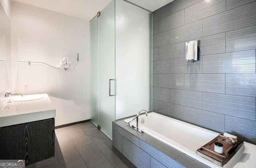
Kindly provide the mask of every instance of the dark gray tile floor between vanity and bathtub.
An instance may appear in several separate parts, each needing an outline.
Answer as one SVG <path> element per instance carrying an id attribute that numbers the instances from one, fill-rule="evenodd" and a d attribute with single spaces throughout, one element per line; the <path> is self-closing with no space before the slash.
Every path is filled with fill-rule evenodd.
<path id="1" fill-rule="evenodd" d="M 55 156 L 26 168 L 135 168 L 91 122 L 55 129 Z"/>

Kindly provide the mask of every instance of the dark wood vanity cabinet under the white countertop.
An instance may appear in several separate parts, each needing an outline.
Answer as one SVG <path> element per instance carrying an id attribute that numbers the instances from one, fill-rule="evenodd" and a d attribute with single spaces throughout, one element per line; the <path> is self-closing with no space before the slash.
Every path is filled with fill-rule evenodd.
<path id="1" fill-rule="evenodd" d="M 26 165 L 54 156 L 54 118 L 0 128 L 0 160 Z"/>

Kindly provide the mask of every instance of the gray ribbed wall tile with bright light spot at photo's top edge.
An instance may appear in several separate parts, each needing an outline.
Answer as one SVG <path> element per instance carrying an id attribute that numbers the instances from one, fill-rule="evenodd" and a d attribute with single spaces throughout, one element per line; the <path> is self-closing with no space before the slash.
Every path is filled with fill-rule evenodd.
<path id="1" fill-rule="evenodd" d="M 201 1 L 185 8 L 185 24 L 224 12 L 226 0 Z"/>

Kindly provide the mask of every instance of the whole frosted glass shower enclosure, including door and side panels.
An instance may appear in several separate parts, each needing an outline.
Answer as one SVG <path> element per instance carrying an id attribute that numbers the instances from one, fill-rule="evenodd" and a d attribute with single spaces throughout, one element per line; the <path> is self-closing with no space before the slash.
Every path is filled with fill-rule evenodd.
<path id="1" fill-rule="evenodd" d="M 112 0 L 90 21 L 91 121 L 112 139 L 112 121 L 152 109 L 152 13 Z"/>

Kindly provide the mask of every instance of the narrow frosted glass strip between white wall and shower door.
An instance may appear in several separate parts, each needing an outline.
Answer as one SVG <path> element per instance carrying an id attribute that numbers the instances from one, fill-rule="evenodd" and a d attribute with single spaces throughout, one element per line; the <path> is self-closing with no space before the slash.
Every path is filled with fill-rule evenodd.
<path id="1" fill-rule="evenodd" d="M 98 18 L 90 21 L 90 111 L 91 121 L 98 125 Z"/>

